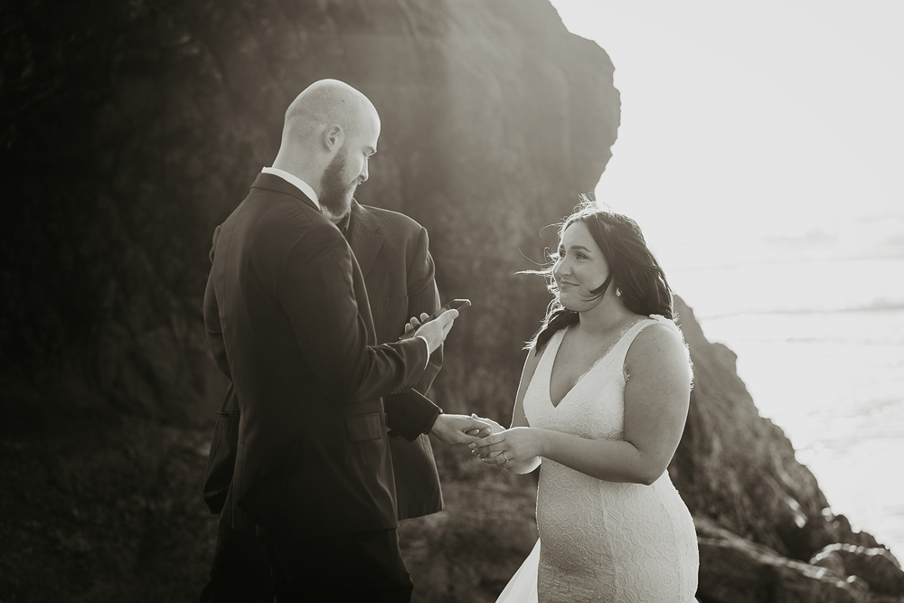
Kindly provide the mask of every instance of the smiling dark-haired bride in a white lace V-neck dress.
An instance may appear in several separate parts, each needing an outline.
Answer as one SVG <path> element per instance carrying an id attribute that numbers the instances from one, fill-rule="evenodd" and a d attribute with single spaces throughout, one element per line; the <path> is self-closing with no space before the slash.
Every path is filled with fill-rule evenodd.
<path id="1" fill-rule="evenodd" d="M 541 465 L 540 541 L 498 601 L 691 603 L 697 540 L 666 467 L 692 372 L 663 269 L 635 221 L 590 204 L 553 259 L 512 428 L 470 445 L 486 465 Z"/>

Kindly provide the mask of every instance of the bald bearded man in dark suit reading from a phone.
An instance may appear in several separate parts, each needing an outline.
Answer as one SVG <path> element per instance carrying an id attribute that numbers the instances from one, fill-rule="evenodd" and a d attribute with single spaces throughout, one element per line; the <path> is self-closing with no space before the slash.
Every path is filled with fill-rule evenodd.
<path id="1" fill-rule="evenodd" d="M 410 600 L 387 430 L 466 443 L 489 427 L 416 397 L 387 426 L 381 397 L 419 382 L 457 313 L 376 344 L 334 221 L 379 135 L 363 94 L 315 82 L 287 109 L 273 166 L 214 233 L 204 318 L 241 417 L 221 523 L 262 539 L 280 602 Z"/>

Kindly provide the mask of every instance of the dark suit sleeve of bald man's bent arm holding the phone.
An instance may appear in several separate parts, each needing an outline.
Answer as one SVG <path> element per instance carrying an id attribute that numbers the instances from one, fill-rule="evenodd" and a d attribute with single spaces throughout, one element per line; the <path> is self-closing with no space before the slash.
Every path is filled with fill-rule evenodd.
<path id="1" fill-rule="evenodd" d="M 372 400 L 414 385 L 428 352 L 415 338 L 369 346 L 354 296 L 353 255 L 334 227 L 314 227 L 288 250 L 278 298 L 306 364 L 322 391 L 339 400 Z"/>

